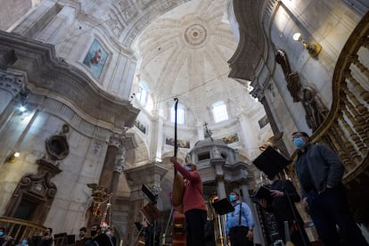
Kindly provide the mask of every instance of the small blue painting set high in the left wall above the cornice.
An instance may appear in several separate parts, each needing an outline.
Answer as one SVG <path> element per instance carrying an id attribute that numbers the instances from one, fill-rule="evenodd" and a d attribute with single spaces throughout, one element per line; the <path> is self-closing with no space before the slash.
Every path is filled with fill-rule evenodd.
<path id="1" fill-rule="evenodd" d="M 108 53 L 102 48 L 99 41 L 94 39 L 94 42 L 88 50 L 83 63 L 89 68 L 94 78 L 100 78 L 103 66 L 108 59 Z"/>

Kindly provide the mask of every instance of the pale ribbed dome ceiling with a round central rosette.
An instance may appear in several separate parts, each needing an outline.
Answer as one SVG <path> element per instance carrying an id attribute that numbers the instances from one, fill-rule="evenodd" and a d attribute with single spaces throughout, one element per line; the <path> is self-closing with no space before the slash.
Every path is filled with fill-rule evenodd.
<path id="1" fill-rule="evenodd" d="M 153 21 L 136 39 L 137 74 L 150 87 L 159 113 L 178 97 L 193 120 L 211 122 L 209 106 L 222 100 L 231 113 L 253 107 L 246 86 L 228 78 L 237 42 L 227 21 L 228 1 L 193 0 Z M 251 103 L 251 104 L 250 104 Z"/>

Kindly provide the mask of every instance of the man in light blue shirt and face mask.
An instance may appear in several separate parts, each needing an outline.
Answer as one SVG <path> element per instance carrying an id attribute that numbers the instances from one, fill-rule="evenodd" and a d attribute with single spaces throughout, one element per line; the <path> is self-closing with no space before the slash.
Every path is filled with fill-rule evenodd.
<path id="1" fill-rule="evenodd" d="M 232 246 L 249 246 L 253 243 L 254 219 L 249 205 L 239 200 L 238 193 L 229 194 L 234 211 L 226 214 L 226 234 Z"/>

